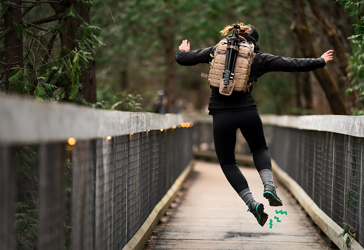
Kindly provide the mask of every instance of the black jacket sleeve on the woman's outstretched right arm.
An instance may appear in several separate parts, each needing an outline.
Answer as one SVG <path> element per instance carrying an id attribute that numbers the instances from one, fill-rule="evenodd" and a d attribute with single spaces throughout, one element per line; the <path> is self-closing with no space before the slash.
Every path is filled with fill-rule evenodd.
<path id="1" fill-rule="evenodd" d="M 317 70 L 325 67 L 325 59 L 323 58 L 286 58 L 283 56 L 274 56 L 266 53 L 257 53 L 254 59 L 257 65 L 258 77 L 267 72 L 306 72 Z"/>

